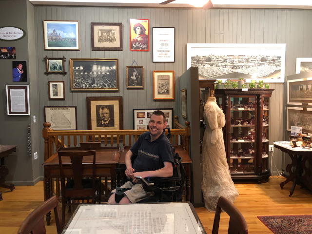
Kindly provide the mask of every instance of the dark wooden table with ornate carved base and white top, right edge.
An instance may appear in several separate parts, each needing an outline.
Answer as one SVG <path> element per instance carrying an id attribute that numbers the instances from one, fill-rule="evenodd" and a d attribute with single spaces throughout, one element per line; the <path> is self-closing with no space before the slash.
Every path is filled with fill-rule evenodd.
<path id="1" fill-rule="evenodd" d="M 308 159 L 308 156 L 312 156 L 312 148 L 307 147 L 304 149 L 301 147 L 292 148 L 289 144 L 290 142 L 288 142 L 287 144 L 283 144 L 281 142 L 274 142 L 275 148 L 280 149 L 282 152 L 287 153 L 292 159 L 292 163 L 288 164 L 286 167 L 286 171 L 289 173 L 290 176 L 284 182 L 280 183 L 281 189 L 283 189 L 283 186 L 285 184 L 293 180 L 291 193 L 289 196 L 292 196 L 296 185 L 299 184 L 300 182 L 303 183 L 312 192 L 312 186 L 307 180 L 307 177 L 311 175 L 311 170 L 306 167 L 306 161 Z M 303 159 L 302 156 L 304 156 Z M 302 176 L 303 170 L 305 171 L 304 176 Z"/>

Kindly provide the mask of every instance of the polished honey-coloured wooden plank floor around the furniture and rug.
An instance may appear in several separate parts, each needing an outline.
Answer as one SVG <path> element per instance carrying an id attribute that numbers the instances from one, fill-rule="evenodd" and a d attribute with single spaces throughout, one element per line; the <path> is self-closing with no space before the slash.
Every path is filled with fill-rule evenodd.
<path id="1" fill-rule="evenodd" d="M 297 186 L 292 197 L 289 197 L 292 184 L 288 183 L 283 190 L 279 187 L 279 183 L 284 180 L 284 177 L 271 177 L 269 182 L 260 185 L 235 184 L 239 196 L 234 205 L 245 217 L 249 234 L 272 233 L 257 216 L 312 215 L 312 195 Z M 43 182 L 35 186 L 17 186 L 13 192 L 5 192 L 7 190 L 3 188 L 0 188 L 0 191 L 4 192 L 2 193 L 3 201 L 0 201 L 0 234 L 17 234 L 21 222 L 43 202 Z M 196 208 L 196 212 L 207 234 L 210 234 L 215 213 L 205 208 Z M 66 221 L 70 216 L 71 214 L 66 214 Z M 228 222 L 228 216 L 221 214 L 219 233 L 227 233 Z M 47 227 L 47 234 L 56 234 L 54 214 L 51 215 L 51 226 Z"/>

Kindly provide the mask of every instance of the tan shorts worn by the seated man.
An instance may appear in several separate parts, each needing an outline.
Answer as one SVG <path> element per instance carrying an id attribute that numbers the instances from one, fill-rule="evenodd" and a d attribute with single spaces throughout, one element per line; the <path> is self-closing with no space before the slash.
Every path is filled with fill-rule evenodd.
<path id="1" fill-rule="evenodd" d="M 154 196 L 154 192 L 146 193 L 141 184 L 133 184 L 131 181 L 126 182 L 120 188 L 131 189 L 125 192 L 125 195 L 131 201 L 131 203 L 137 203 L 145 198 Z M 116 189 L 112 190 L 112 193 L 116 193 Z"/>

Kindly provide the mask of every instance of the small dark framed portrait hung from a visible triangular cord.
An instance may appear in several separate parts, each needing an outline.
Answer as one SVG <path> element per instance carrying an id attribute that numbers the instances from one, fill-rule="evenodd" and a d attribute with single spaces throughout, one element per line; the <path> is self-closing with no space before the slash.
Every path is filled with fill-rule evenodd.
<path id="1" fill-rule="evenodd" d="M 127 66 L 127 88 L 144 88 L 144 68 Z"/>

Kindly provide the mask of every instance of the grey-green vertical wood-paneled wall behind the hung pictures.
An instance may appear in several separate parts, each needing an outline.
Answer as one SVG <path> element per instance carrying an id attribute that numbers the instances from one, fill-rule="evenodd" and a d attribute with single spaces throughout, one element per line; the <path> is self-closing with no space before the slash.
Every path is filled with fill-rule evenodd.
<path id="1" fill-rule="evenodd" d="M 175 27 L 176 62 L 164 64 L 152 62 L 151 34 L 151 50 L 149 52 L 130 52 L 129 19 L 150 19 L 150 32 L 154 26 Z M 80 51 L 44 51 L 42 20 L 78 20 L 80 27 Z M 42 127 L 44 122 L 43 106 L 77 105 L 78 129 L 87 129 L 87 96 L 122 96 L 124 129 L 133 128 L 133 108 L 174 108 L 175 114 L 177 114 L 180 111 L 177 100 L 179 98 L 177 85 L 175 87 L 175 101 L 153 100 L 153 70 L 174 70 L 177 81 L 178 77 L 187 70 L 187 43 L 286 43 L 285 76 L 294 74 L 295 59 L 297 57 L 312 57 L 311 21 L 312 11 L 310 10 L 226 9 L 205 11 L 200 9 L 35 6 L 40 126 Z M 90 22 L 122 22 L 123 51 L 91 51 Z M 42 59 L 46 55 L 48 57 L 65 56 L 67 58 L 65 69 L 68 74 L 65 77 L 61 75 L 45 76 L 43 74 L 45 68 Z M 118 58 L 119 91 L 71 92 L 69 79 L 70 58 Z M 126 88 L 126 66 L 130 66 L 133 60 L 136 60 L 138 65 L 144 66 L 144 89 L 128 90 Z M 49 100 L 48 80 L 65 81 L 66 99 L 64 101 Z M 271 100 L 271 143 L 272 141 L 283 139 L 283 85 L 280 83 L 271 84 L 271 88 L 275 89 Z M 43 155 L 43 147 L 41 147 L 41 155 Z M 285 169 L 280 152 L 275 152 L 274 160 L 278 170 Z"/>

